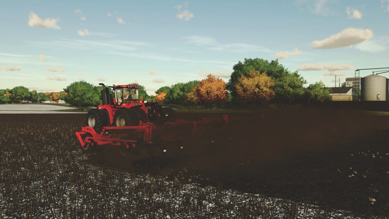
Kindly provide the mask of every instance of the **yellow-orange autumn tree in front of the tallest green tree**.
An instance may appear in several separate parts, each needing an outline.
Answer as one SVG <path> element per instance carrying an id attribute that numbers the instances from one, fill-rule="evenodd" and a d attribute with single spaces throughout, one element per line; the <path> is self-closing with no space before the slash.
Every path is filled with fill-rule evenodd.
<path id="1" fill-rule="evenodd" d="M 275 96 L 274 81 L 263 72 L 249 70 L 247 76 L 241 76 L 235 85 L 238 98 L 244 103 L 266 103 Z"/>

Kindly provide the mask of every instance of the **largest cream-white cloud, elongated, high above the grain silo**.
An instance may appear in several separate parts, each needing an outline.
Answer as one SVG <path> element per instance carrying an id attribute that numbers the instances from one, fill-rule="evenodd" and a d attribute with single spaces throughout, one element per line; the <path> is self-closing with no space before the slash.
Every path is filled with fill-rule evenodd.
<path id="1" fill-rule="evenodd" d="M 314 49 L 333 49 L 339 47 L 352 46 L 373 37 L 373 31 L 370 29 L 347 28 L 342 32 L 332 35 L 324 40 L 312 42 Z"/>

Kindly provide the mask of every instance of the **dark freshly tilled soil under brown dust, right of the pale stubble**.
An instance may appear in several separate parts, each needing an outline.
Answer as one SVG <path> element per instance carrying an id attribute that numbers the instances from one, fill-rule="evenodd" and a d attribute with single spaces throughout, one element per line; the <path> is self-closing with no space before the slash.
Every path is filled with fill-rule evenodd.
<path id="1" fill-rule="evenodd" d="M 205 132 L 186 142 L 192 158 L 140 161 L 131 171 L 202 185 L 221 183 L 224 189 L 310 201 L 359 215 L 389 216 L 387 117 L 340 109 L 285 109 L 228 118 L 228 131 Z M 119 162 L 117 152 L 104 153 L 107 164 L 129 169 L 128 161 Z"/>

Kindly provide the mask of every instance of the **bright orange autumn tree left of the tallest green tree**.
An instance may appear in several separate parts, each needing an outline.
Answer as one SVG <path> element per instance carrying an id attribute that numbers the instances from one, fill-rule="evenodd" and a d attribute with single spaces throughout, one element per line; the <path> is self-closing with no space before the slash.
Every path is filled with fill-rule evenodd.
<path id="1" fill-rule="evenodd" d="M 215 78 L 212 74 L 200 81 L 194 92 L 196 93 L 198 102 L 201 104 L 222 104 L 226 102 L 228 97 L 226 83 L 220 78 Z M 188 95 L 191 95 L 190 92 Z"/>

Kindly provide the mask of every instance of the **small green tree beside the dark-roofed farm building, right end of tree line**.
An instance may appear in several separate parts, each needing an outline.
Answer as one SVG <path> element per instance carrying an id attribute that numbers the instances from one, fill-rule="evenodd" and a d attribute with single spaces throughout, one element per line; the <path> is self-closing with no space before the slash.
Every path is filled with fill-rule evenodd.
<path id="1" fill-rule="evenodd" d="M 326 87 L 322 81 L 310 84 L 305 90 L 306 98 L 308 102 L 330 102 L 332 101 L 332 90 Z"/>

